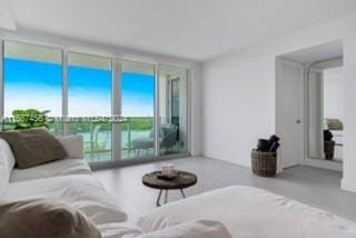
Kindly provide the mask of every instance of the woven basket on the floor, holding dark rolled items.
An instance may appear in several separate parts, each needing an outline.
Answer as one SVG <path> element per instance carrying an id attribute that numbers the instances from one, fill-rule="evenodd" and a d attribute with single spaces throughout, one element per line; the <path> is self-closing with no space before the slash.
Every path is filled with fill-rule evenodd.
<path id="1" fill-rule="evenodd" d="M 277 170 L 277 153 L 251 151 L 253 172 L 263 177 L 275 177 Z"/>

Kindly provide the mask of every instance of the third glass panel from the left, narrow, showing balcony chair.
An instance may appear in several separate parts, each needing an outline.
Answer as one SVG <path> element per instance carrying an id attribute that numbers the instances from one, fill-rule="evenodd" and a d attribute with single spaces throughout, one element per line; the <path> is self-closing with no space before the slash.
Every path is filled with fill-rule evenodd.
<path id="1" fill-rule="evenodd" d="M 154 157 L 155 153 L 155 66 L 122 61 L 121 159 Z"/>

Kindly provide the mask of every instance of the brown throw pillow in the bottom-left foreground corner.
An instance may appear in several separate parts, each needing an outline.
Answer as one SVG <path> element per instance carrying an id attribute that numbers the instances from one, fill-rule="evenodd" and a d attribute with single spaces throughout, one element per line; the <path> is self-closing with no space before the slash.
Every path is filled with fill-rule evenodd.
<path id="1" fill-rule="evenodd" d="M 50 200 L 0 202 L 0 237 L 100 238 L 83 214 Z"/>

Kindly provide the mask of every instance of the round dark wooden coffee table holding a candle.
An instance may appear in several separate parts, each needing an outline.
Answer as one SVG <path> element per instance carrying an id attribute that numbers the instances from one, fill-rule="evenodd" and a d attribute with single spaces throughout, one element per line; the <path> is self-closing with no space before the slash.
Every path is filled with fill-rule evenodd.
<path id="1" fill-rule="evenodd" d="M 157 207 L 160 206 L 160 198 L 164 190 L 165 190 L 165 204 L 167 204 L 168 190 L 179 189 L 182 198 L 186 198 L 184 189 L 190 186 L 194 186 L 198 181 L 196 175 L 187 171 L 178 170 L 177 175 L 171 179 L 159 178 L 160 173 L 161 171 L 154 171 L 150 173 L 146 173 L 142 177 L 144 185 L 150 188 L 159 189 L 159 194 L 156 201 Z"/>

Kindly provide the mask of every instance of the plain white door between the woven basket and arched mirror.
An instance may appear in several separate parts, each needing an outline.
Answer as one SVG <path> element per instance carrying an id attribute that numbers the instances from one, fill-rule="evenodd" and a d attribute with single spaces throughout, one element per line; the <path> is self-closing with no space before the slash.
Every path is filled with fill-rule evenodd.
<path id="1" fill-rule="evenodd" d="M 304 66 L 277 60 L 276 131 L 280 137 L 278 170 L 299 165 L 304 158 Z"/>

